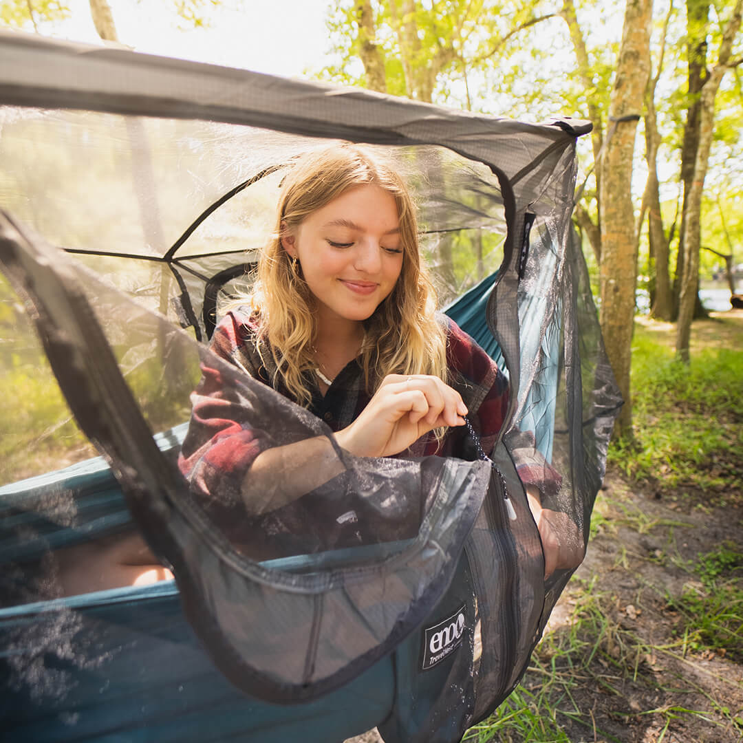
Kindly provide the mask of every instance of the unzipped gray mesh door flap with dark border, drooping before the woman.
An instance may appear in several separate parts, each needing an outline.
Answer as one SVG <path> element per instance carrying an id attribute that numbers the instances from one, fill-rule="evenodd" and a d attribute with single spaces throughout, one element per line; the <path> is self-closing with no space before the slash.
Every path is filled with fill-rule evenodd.
<path id="1" fill-rule="evenodd" d="M 203 354 L 221 372 L 227 395 L 250 406 L 268 448 L 328 436 L 325 424 L 210 359 L 210 351 L 181 331 L 160 328 L 157 318 L 76 271 L 58 251 L 25 239 L 7 219 L 0 259 L 36 308 L 39 334 L 71 408 L 114 461 L 134 518 L 155 554 L 173 565 L 186 615 L 233 683 L 272 701 L 315 698 L 363 672 L 428 616 L 480 510 L 487 464 L 355 459 L 336 450 L 340 476 L 276 512 L 285 512 L 284 523 L 299 524 L 299 533 L 269 533 L 265 519 L 246 523 L 239 494 L 210 493 L 208 502 L 196 502 L 152 438 L 137 435 L 146 424 L 86 294 L 99 312 L 102 304 L 117 307 L 120 327 L 109 325 L 108 332 L 123 345 L 125 328 L 140 331 L 142 318 L 150 318 L 153 337 L 162 331 L 172 345 L 181 342 Z M 115 325 L 115 313 L 106 317 Z M 348 510 L 357 514 L 363 539 L 353 529 L 344 536 L 329 528 Z M 235 519 L 241 528 L 230 541 Z M 359 541 L 366 548 L 355 548 Z M 328 552 L 341 559 L 333 569 L 321 569 Z M 302 572 L 254 562 L 302 554 L 308 555 Z"/>

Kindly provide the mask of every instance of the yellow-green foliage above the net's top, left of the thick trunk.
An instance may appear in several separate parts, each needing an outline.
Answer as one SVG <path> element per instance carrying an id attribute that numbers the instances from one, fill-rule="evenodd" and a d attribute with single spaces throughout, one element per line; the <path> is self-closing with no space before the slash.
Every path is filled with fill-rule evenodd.
<path id="1" fill-rule="evenodd" d="M 354 0 L 343 0 L 331 7 L 327 27 L 333 61 L 317 71 L 323 80 L 365 83 L 356 6 Z M 371 7 L 371 41 L 383 59 L 390 94 L 480 111 L 493 110 L 493 100 L 506 84 L 501 62 L 508 53 L 539 49 L 537 44 L 523 45 L 523 39 L 536 39 L 539 19 L 555 12 L 554 3 L 544 0 L 377 0 Z M 549 53 L 540 53 L 545 55 Z M 530 66 L 539 69 L 538 64 Z M 522 80 L 523 75 L 517 77 L 517 84 Z M 527 87 L 539 86 L 532 81 Z M 504 113 L 502 107 L 499 113 Z"/>

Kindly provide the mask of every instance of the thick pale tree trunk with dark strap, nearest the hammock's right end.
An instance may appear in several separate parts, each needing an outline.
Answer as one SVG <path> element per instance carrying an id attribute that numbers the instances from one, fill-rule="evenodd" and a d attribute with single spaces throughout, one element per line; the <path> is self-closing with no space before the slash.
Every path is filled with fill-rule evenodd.
<path id="1" fill-rule="evenodd" d="M 609 117 L 637 114 L 643 106 L 650 67 L 652 0 L 627 0 L 617 77 Z M 632 158 L 637 121 L 619 123 L 600 162 L 601 265 L 600 324 L 609 361 L 625 400 L 617 432 L 632 432 L 629 364 L 635 318 L 637 236 L 632 207 Z"/>

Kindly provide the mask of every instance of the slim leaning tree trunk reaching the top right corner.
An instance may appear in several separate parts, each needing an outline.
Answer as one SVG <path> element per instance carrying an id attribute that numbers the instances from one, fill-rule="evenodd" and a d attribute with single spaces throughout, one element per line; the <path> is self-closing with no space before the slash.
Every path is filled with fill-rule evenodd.
<path id="1" fill-rule="evenodd" d="M 682 361 L 689 361 L 692 318 L 697 300 L 699 282 L 699 247 L 701 244 L 701 199 L 704 178 L 710 160 L 710 149 L 715 129 L 715 97 L 724 74 L 729 69 L 733 41 L 741 26 L 743 0 L 736 0 L 730 20 L 724 28 L 718 61 L 701 88 L 699 98 L 699 143 L 692 172 L 691 187 L 684 208 L 684 263 L 681 274 L 681 296 L 678 303 L 676 326 L 676 353 Z"/>

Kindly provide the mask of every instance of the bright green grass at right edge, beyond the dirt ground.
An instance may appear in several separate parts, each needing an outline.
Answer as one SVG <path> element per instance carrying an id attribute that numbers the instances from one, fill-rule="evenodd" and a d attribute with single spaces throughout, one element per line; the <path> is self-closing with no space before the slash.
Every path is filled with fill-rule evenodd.
<path id="1" fill-rule="evenodd" d="M 687 366 L 656 333 L 637 325 L 634 438 L 612 442 L 609 462 L 660 490 L 711 490 L 724 500 L 731 490 L 743 489 L 741 369 L 743 350 L 702 348 Z"/>

